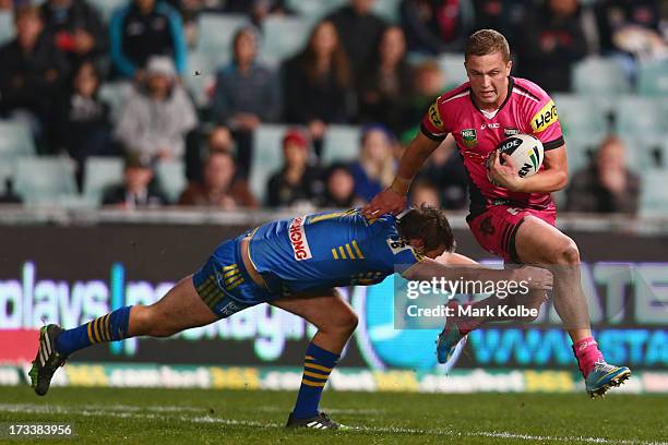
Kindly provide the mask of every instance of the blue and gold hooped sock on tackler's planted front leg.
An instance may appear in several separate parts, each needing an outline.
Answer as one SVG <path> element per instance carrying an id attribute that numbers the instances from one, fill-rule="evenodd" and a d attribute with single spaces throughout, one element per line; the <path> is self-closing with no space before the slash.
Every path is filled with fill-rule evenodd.
<path id="1" fill-rule="evenodd" d="M 330 373 L 336 366 L 338 354 L 309 344 L 303 364 L 303 376 L 297 395 L 293 414 L 297 419 L 307 419 L 318 414 L 318 405 Z"/>

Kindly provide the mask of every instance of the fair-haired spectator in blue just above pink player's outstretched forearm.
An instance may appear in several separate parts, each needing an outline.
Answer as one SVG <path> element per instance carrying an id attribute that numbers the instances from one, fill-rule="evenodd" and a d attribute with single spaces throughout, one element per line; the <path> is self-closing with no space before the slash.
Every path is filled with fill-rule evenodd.
<path id="1" fill-rule="evenodd" d="M 355 179 L 355 194 L 365 201 L 390 187 L 394 179 L 394 135 L 383 125 L 362 129 L 359 160 L 350 166 Z"/>

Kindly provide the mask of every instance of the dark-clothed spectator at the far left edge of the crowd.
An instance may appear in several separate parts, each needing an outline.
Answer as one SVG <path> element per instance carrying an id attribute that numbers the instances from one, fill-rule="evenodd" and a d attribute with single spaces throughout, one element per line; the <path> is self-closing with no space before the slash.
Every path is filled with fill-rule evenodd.
<path id="1" fill-rule="evenodd" d="M 0 48 L 0 116 L 27 121 L 38 148 L 49 152 L 53 104 L 69 63 L 44 33 L 39 7 L 16 7 L 16 37 Z"/>

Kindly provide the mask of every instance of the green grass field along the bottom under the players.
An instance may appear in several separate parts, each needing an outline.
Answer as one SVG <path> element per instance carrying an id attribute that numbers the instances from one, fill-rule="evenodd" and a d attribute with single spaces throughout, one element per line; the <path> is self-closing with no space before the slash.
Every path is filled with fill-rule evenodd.
<path id="1" fill-rule="evenodd" d="M 56 443 L 668 443 L 668 397 L 585 394 L 325 393 L 322 408 L 346 432 L 287 431 L 295 394 L 200 389 L 0 387 L 0 423 L 74 425 Z M 25 438 L 10 443 L 44 443 Z M 0 436 L 7 443 L 7 436 Z"/>

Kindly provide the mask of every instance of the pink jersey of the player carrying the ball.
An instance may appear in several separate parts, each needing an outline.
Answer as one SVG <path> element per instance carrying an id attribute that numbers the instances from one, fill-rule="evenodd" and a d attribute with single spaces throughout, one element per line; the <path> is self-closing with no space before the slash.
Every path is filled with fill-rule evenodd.
<path id="1" fill-rule="evenodd" d="M 441 95 L 422 120 L 421 131 L 441 141 L 452 133 L 469 176 L 470 213 L 503 204 L 546 209 L 553 207 L 549 193 L 515 193 L 487 179 L 487 157 L 505 137 L 533 134 L 546 151 L 563 145 L 554 103 L 538 85 L 525 79 L 509 79 L 508 97 L 496 112 L 481 111 L 473 101 L 467 83 Z M 542 167 L 541 167 L 542 168 Z"/>

